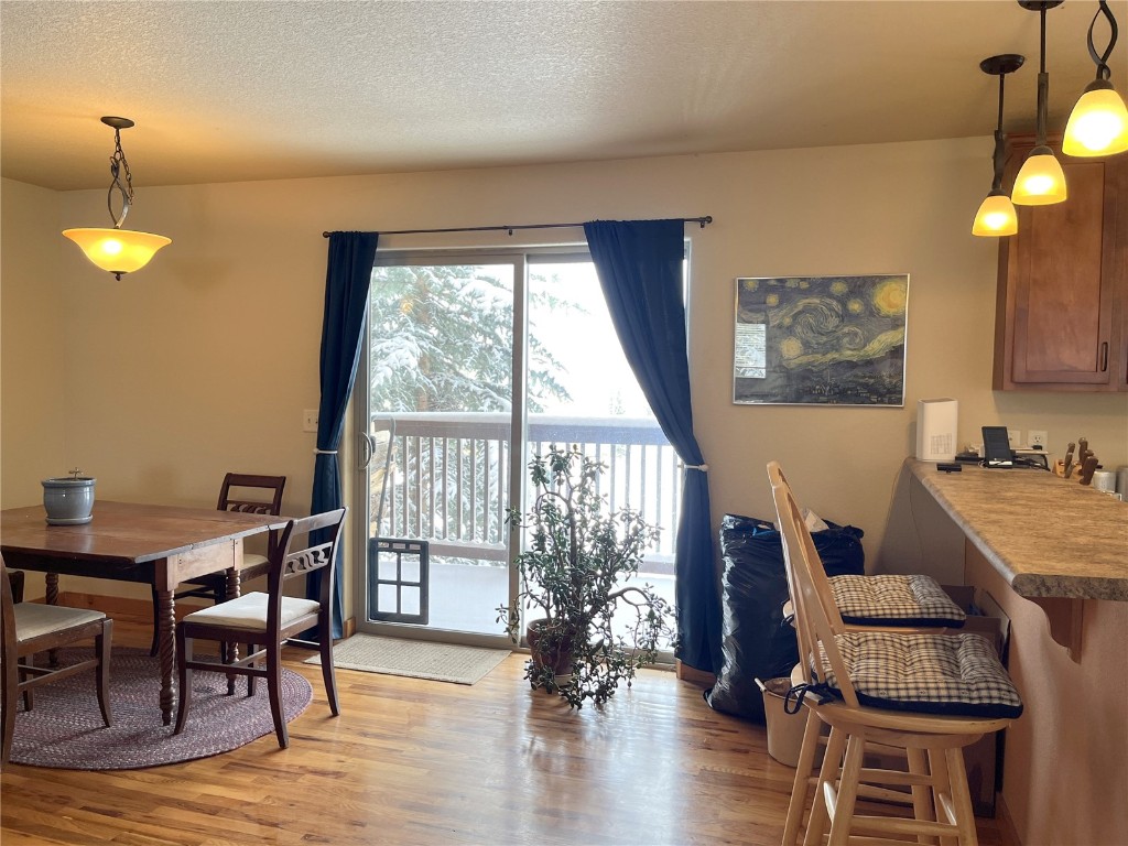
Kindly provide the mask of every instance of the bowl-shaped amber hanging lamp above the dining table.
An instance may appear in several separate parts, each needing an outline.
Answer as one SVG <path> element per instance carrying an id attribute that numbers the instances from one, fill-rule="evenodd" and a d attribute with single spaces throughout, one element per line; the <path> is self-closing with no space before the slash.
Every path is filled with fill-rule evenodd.
<path id="1" fill-rule="evenodd" d="M 81 247 L 87 258 L 121 281 L 123 273 L 144 267 L 157 250 L 171 244 L 173 239 L 152 232 L 122 229 L 125 215 L 133 204 L 133 182 L 130 176 L 130 165 L 122 151 L 122 130 L 132 126 L 133 121 L 127 117 L 103 117 L 102 122 L 114 129 L 114 153 L 109 157 L 109 174 L 114 178 L 106 195 L 106 208 L 114 221 L 114 228 L 64 229 L 63 235 Z M 124 183 L 122 183 L 123 174 Z M 114 214 L 115 190 L 122 196 L 121 214 Z"/>

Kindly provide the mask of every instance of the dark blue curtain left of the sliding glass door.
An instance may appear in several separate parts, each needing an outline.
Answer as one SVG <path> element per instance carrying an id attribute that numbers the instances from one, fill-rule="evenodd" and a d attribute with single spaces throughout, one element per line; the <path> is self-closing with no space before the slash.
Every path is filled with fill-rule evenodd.
<path id="1" fill-rule="evenodd" d="M 329 235 L 328 270 L 325 274 L 325 316 L 321 320 L 321 403 L 317 412 L 317 459 L 314 462 L 314 496 L 310 513 L 338 509 L 341 468 L 337 448 L 344 431 L 345 408 L 356 378 L 361 332 L 368 311 L 368 289 L 372 281 L 378 232 L 333 232 Z M 333 637 L 344 635 L 344 545 L 334 563 Z M 321 571 L 314 571 L 306 596 L 317 598 Z M 318 633 L 320 636 L 320 633 Z"/>

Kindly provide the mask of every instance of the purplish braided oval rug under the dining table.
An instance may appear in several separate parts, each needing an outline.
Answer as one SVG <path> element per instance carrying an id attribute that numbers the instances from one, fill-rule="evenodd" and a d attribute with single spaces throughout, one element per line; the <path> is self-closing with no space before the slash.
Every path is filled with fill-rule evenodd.
<path id="1" fill-rule="evenodd" d="M 90 647 L 59 651 L 64 664 L 89 655 Z M 238 679 L 235 696 L 228 696 L 224 676 L 195 671 L 188 723 L 183 733 L 173 734 L 173 726 L 160 722 L 156 658 L 142 650 L 115 647 L 109 678 L 112 726 L 102 721 L 92 670 L 35 688 L 30 712 L 24 711 L 20 698 L 11 761 L 58 769 L 140 769 L 206 758 L 274 733 L 263 680 L 248 697 L 246 679 Z M 287 722 L 301 714 L 312 696 L 305 678 L 283 668 Z"/>

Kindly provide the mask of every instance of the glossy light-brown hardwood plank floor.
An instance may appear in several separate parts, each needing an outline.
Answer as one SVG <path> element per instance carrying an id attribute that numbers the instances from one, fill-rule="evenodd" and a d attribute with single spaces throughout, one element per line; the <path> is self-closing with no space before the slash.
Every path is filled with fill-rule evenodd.
<path id="1" fill-rule="evenodd" d="M 120 619 L 115 642 L 148 646 Z M 532 691 L 511 655 L 472 687 L 338 670 L 329 716 L 319 668 L 290 723 L 226 755 L 85 773 L 10 765 L 0 843 L 777 844 L 794 770 L 761 726 L 712 711 L 673 673 L 643 672 L 602 711 Z M 258 697 L 267 707 L 265 693 Z M 980 841 L 1004 844 L 994 820 Z"/>

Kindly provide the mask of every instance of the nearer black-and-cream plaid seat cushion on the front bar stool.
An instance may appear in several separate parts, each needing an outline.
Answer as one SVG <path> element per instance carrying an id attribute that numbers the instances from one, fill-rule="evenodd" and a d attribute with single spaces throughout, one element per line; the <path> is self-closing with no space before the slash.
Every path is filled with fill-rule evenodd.
<path id="1" fill-rule="evenodd" d="M 1019 691 L 981 635 L 847 632 L 835 643 L 863 705 L 988 719 L 1022 713 Z M 820 676 L 840 697 L 821 645 L 819 656 Z"/>

